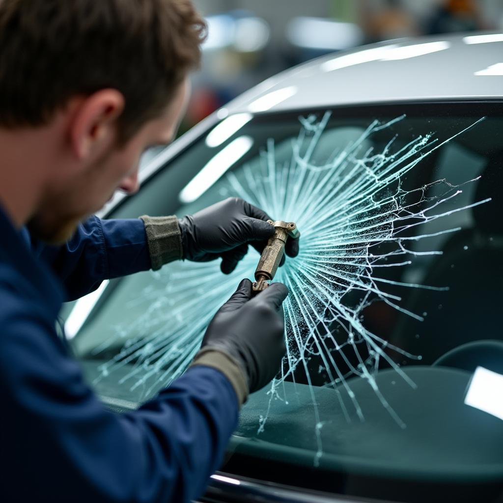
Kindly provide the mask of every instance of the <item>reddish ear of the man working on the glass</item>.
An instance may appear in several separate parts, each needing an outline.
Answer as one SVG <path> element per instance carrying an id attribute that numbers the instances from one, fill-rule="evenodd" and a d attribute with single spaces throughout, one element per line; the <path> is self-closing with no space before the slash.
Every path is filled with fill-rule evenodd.
<path id="1" fill-rule="evenodd" d="M 124 96 L 115 89 L 102 89 L 80 101 L 70 122 L 71 146 L 79 159 L 100 156 L 116 141 L 124 105 Z"/>

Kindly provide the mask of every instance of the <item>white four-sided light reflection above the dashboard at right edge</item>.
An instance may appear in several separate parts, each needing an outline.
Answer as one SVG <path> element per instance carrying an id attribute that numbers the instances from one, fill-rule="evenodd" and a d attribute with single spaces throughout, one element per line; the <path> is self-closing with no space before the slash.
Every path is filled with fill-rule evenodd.
<path id="1" fill-rule="evenodd" d="M 503 419 L 503 375 L 477 367 L 466 392 L 465 405 Z"/>

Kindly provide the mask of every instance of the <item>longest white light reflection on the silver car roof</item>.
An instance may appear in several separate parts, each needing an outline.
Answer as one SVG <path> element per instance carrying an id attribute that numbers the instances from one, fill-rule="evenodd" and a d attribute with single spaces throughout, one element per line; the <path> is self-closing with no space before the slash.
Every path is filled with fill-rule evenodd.
<path id="1" fill-rule="evenodd" d="M 443 51 L 451 46 L 449 42 L 428 42 L 426 44 L 414 44 L 399 46 L 397 44 L 375 47 L 364 51 L 346 54 L 321 63 L 322 71 L 338 70 L 369 61 L 393 61 L 398 59 L 414 58 L 432 52 Z"/>

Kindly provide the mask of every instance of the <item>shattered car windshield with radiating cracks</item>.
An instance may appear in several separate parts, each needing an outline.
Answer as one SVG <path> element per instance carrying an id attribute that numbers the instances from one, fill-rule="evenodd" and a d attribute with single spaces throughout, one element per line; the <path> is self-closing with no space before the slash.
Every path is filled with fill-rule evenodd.
<path id="1" fill-rule="evenodd" d="M 350 494 L 380 493 L 334 474 L 499 490 L 501 105 L 240 114 L 208 133 L 110 216 L 238 196 L 297 223 L 300 254 L 276 277 L 287 355 L 243 406 L 226 470 Z M 258 260 L 111 281 L 72 340 L 103 399 L 138 406 L 181 375 Z"/>

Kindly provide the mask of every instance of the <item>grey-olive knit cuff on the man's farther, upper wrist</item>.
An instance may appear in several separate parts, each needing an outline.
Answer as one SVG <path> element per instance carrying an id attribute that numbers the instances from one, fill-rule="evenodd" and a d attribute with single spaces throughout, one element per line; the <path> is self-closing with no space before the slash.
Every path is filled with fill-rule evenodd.
<path id="1" fill-rule="evenodd" d="M 168 262 L 182 258 L 182 234 L 175 215 L 169 217 L 143 215 L 140 218 L 145 224 L 150 262 L 154 271 Z"/>

